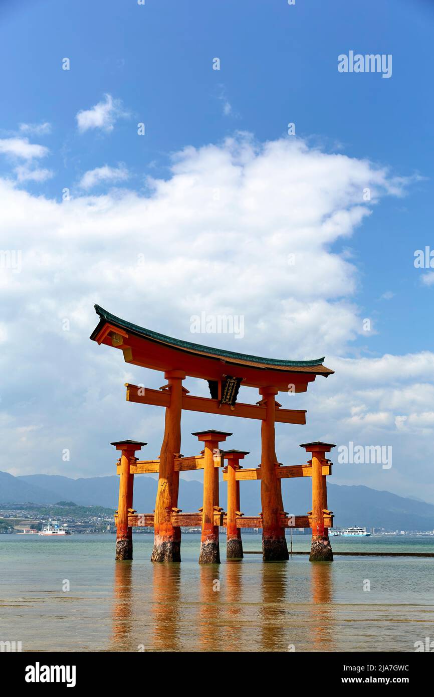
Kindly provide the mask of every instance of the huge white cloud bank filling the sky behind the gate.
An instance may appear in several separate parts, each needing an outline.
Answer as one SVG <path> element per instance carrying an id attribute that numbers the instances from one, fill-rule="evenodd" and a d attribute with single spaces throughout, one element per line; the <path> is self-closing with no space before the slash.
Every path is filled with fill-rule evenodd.
<path id="1" fill-rule="evenodd" d="M 247 135 L 185 148 L 168 178 L 147 184 L 146 194 L 113 190 L 59 203 L 0 181 L 8 231 L 0 247 L 20 240 L 22 250 L 21 273 L 0 273 L 3 468 L 14 462 L 22 474 L 109 474 L 108 443 L 125 434 L 149 443 L 146 457 L 158 454 L 164 414 L 126 404 L 123 383 L 158 388 L 162 376 L 89 341 L 98 302 L 127 320 L 210 346 L 276 358 L 326 355 L 335 375 L 318 377 L 306 395 L 279 395 L 282 406 L 308 410 L 305 427 L 278 424 L 279 460 L 300 464 L 297 443 L 309 438 L 392 443 L 390 470 L 336 465 L 334 480 L 414 496 L 422 485 L 434 500 L 434 354 L 349 358 L 363 315 L 355 300 L 357 265 L 339 252 L 340 243 L 346 249 L 375 215 L 363 201 L 365 187 L 372 203 L 401 194 L 402 185 L 367 160 L 295 139 L 256 144 Z M 192 335 L 190 317 L 201 312 L 243 316 L 244 337 Z M 187 387 L 199 395 L 208 390 L 193 379 Z M 243 401 L 258 399 L 244 390 Z M 208 421 L 183 415 L 183 452 L 196 452 L 187 434 Z M 231 447 L 250 450 L 253 466 L 258 424 L 237 421 L 219 416 L 216 427 L 235 434 L 236 426 Z M 23 440 L 18 429 L 26 427 Z"/>

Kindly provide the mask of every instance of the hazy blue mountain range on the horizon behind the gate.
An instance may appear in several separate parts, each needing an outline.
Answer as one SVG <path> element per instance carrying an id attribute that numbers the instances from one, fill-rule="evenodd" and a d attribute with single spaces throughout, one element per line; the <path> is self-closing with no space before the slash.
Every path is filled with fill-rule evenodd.
<path id="1" fill-rule="evenodd" d="M 13 477 L 0 472 L 1 503 L 58 503 L 74 501 L 84 506 L 117 508 L 118 484 L 116 475 L 86 477 L 73 480 L 59 475 L 25 475 Z M 157 482 L 153 477 L 134 477 L 134 508 L 139 513 L 151 513 L 155 508 Z M 226 482 L 220 485 L 220 505 L 226 509 Z M 310 480 L 282 480 L 285 510 L 302 515 L 311 509 Z M 351 525 L 389 530 L 434 530 L 434 505 L 413 498 L 396 496 L 389 491 L 369 487 L 348 487 L 327 484 L 328 507 L 334 511 L 336 526 Z M 202 505 L 201 482 L 180 480 L 178 506 L 193 512 Z M 261 510 L 259 482 L 242 482 L 241 510 L 257 515 Z"/>

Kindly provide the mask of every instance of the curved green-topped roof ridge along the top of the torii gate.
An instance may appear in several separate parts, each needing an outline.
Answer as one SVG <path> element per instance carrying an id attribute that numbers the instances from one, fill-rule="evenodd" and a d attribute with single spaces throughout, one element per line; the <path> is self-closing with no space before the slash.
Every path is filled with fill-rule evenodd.
<path id="1" fill-rule="evenodd" d="M 173 346 L 178 346 L 178 348 L 186 348 L 187 350 L 194 349 L 194 351 L 212 353 L 214 355 L 222 356 L 222 358 L 238 358 L 240 360 L 251 360 L 252 362 L 256 363 L 265 363 L 265 365 L 276 365 L 281 367 L 314 367 L 316 365 L 323 365 L 323 360 L 325 358 L 323 356 L 323 358 L 316 358 L 315 360 L 280 360 L 278 358 L 263 358 L 262 356 L 249 355 L 247 353 L 235 353 L 234 351 L 224 351 L 223 348 L 212 348 L 212 346 L 203 346 L 202 344 L 192 344 L 192 342 L 186 342 L 183 339 L 174 339 L 173 337 L 169 337 L 165 334 L 153 332 L 150 329 L 139 327 L 139 325 L 137 324 L 127 322 L 125 321 L 125 319 L 121 319 L 121 317 L 116 317 L 116 315 L 107 312 L 107 310 L 101 307 L 100 305 L 94 305 L 94 307 L 96 314 L 98 314 L 104 321 L 107 321 L 111 324 L 118 324 L 124 329 L 129 329 L 132 332 L 144 335 L 149 339 L 155 339 L 156 341 L 162 341 L 172 344 Z M 92 333 L 91 339 L 93 339 L 95 331 Z"/>

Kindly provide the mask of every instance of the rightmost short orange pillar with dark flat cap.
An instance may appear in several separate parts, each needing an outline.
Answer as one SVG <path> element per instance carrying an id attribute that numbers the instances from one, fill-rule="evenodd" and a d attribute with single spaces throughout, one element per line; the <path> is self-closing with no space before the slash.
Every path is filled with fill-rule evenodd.
<path id="1" fill-rule="evenodd" d="M 312 543 L 309 561 L 332 562 L 332 546 L 328 528 L 324 526 L 324 510 L 327 508 L 327 499 L 325 499 L 323 461 L 325 461 L 325 453 L 330 452 L 331 448 L 335 446 L 332 443 L 316 441 L 316 443 L 303 443 L 301 447 L 312 454 Z"/>

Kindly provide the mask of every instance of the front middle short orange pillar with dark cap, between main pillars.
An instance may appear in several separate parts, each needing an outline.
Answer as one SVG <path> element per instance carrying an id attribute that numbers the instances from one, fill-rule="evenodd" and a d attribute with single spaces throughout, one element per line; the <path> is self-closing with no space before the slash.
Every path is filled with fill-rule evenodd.
<path id="1" fill-rule="evenodd" d="M 218 467 L 215 461 L 215 450 L 219 450 L 219 443 L 226 441 L 232 434 L 224 431 L 198 431 L 193 434 L 204 443 L 203 450 L 203 508 L 202 508 L 202 536 L 199 564 L 219 564 L 219 528 L 214 524 L 215 510 L 219 510 L 218 501 Z M 217 487 L 216 475 L 217 469 Z"/>

